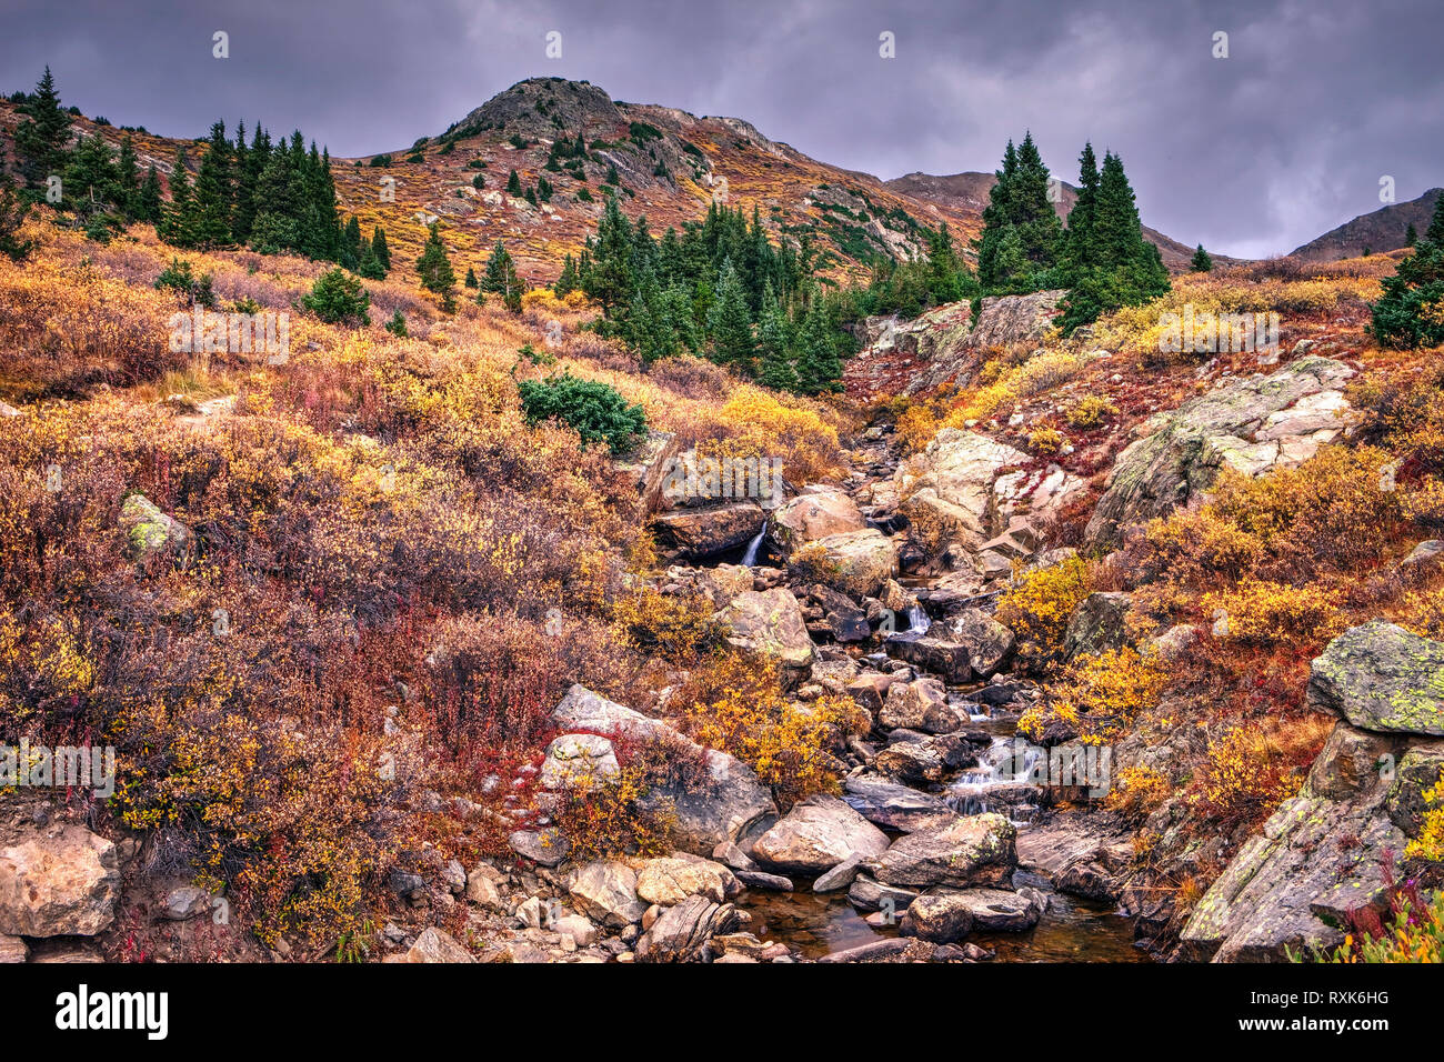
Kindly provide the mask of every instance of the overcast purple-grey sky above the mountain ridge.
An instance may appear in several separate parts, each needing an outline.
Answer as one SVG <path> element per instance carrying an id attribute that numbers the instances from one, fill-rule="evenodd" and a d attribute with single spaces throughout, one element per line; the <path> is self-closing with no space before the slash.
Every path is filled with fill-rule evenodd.
<path id="1" fill-rule="evenodd" d="M 1073 181 L 1092 140 L 1148 224 L 1246 257 L 1378 210 L 1383 176 L 1444 185 L 1441 55 L 1441 0 L 0 0 L 0 88 L 49 62 L 68 104 L 169 136 L 260 118 L 367 155 L 586 78 L 882 178 L 993 169 L 1031 129 Z"/>

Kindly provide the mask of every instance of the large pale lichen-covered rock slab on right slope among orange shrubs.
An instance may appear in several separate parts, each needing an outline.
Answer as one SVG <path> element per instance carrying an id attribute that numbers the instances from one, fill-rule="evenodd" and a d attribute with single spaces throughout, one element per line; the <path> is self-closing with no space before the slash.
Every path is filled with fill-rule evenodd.
<path id="1" fill-rule="evenodd" d="M 1352 376 L 1341 361 L 1305 357 L 1149 418 L 1118 455 L 1084 545 L 1116 546 L 1123 527 L 1187 504 L 1225 465 L 1259 475 L 1302 464 L 1347 426 L 1343 384 Z"/>

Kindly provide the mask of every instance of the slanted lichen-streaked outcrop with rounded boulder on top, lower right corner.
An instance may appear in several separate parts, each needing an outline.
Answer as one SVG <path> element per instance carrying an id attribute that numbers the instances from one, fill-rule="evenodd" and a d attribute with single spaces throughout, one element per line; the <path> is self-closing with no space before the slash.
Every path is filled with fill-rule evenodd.
<path id="1" fill-rule="evenodd" d="M 1268 962 L 1330 948 L 1353 912 L 1382 903 L 1386 868 L 1418 837 L 1424 790 L 1444 773 L 1441 666 L 1444 643 L 1380 621 L 1314 660 L 1308 702 L 1341 718 L 1298 796 L 1194 907 L 1186 957 Z"/>

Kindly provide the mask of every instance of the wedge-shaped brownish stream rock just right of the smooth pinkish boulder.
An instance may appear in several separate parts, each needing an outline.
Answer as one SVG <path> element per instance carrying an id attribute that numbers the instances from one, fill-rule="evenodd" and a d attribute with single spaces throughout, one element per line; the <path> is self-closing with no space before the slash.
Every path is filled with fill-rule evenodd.
<path id="1" fill-rule="evenodd" d="M 920 889 L 1005 884 L 1018 865 L 1017 835 L 995 812 L 959 816 L 898 838 L 864 868 L 884 884 Z"/>

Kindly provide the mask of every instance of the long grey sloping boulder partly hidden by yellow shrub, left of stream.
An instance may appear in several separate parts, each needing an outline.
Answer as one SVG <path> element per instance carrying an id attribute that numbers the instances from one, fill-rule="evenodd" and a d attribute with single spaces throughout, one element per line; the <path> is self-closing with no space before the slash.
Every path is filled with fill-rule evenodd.
<path id="1" fill-rule="evenodd" d="M 625 737 L 661 748 L 669 759 L 697 759 L 700 770 L 679 772 L 643 798 L 644 806 L 676 816 L 677 845 L 686 851 L 710 854 L 762 816 L 777 813 L 771 792 L 745 763 L 716 748 L 700 748 L 661 720 L 608 701 L 586 686 L 572 686 L 552 711 L 552 721 L 562 731 Z"/>

